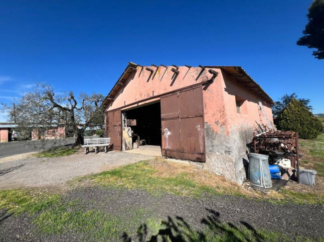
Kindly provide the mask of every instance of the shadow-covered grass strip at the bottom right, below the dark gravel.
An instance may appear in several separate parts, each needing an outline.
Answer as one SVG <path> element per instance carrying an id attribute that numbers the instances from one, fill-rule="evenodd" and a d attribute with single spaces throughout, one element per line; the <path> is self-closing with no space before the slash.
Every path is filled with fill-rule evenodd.
<path id="1" fill-rule="evenodd" d="M 296 241 L 295 239 L 300 242 L 321 241 L 321 238 L 316 240 L 306 237 L 291 238 L 279 232 L 255 229 L 246 222 L 241 222 L 241 226 L 221 223 L 218 216 L 215 211 L 212 211 L 207 218 L 202 219 L 201 223 L 204 225 L 202 230 L 194 229 L 181 217 L 168 217 L 167 221 L 161 222 L 160 229 L 153 236 L 145 232 L 146 224 L 142 224 L 135 238 L 140 239 L 139 241 L 190 242 L 293 242 Z M 124 241 L 133 241 L 135 238 L 124 234 Z"/>

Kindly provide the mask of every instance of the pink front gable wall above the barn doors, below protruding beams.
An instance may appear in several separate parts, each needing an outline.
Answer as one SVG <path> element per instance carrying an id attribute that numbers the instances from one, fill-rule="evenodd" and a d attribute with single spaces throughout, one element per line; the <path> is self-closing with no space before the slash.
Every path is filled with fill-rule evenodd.
<path id="1" fill-rule="evenodd" d="M 172 76 L 174 73 L 171 71 L 173 67 L 167 67 L 165 74 L 165 68 L 160 67 L 154 77 L 157 68 L 151 66 L 149 68 L 151 68 L 154 72 L 150 80 L 148 80 L 151 72 L 147 71 L 145 68 L 146 67 L 143 67 L 142 70 L 142 67 L 137 67 L 137 72 L 133 72 L 133 74 L 127 80 L 128 84 L 122 88 L 121 92 L 115 98 L 115 101 L 108 107 L 108 111 L 123 107 L 124 105 L 128 105 L 133 102 L 141 101 L 146 98 L 154 97 L 155 95 L 160 95 L 168 91 L 176 90 L 202 81 L 207 81 L 212 77 L 212 74 L 208 73 L 208 69 L 206 68 L 198 80 L 196 80 L 201 71 L 200 67 L 192 67 L 190 69 L 187 67 L 179 67 L 179 75 L 173 82 Z"/>

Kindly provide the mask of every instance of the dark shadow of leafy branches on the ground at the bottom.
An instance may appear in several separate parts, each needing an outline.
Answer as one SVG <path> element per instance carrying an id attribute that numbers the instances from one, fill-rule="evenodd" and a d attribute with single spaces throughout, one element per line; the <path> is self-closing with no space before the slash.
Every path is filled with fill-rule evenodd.
<path id="1" fill-rule="evenodd" d="M 231 242 L 263 242 L 267 241 L 264 235 L 259 233 L 247 222 L 240 221 L 240 227 L 232 223 L 220 221 L 220 214 L 214 210 L 207 209 L 208 216 L 200 223 L 205 230 L 195 230 L 181 217 L 167 218 L 162 221 L 161 229 L 157 234 L 150 236 L 149 228 L 142 224 L 135 238 L 130 237 L 126 232 L 122 236 L 123 242 L 209 242 L 209 241 L 231 241 Z"/>

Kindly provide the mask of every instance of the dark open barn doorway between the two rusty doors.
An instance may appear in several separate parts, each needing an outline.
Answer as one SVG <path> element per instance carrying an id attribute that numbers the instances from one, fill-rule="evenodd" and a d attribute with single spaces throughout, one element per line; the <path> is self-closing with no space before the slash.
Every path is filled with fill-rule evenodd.
<path id="1" fill-rule="evenodd" d="M 123 150 L 136 149 L 142 146 L 159 146 L 161 150 L 160 101 L 124 110 L 123 130 Z"/>

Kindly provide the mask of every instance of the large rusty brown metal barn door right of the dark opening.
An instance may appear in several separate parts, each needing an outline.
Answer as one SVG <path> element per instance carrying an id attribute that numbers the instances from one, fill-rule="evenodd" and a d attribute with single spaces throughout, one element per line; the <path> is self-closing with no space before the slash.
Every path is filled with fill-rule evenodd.
<path id="1" fill-rule="evenodd" d="M 201 86 L 161 97 L 162 155 L 205 161 Z"/>

